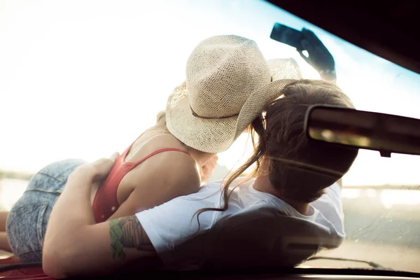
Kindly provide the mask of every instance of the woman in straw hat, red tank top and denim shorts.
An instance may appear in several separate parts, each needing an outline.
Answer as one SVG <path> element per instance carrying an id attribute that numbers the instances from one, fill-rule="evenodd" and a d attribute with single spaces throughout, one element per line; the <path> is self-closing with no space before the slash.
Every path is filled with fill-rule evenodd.
<path id="1" fill-rule="evenodd" d="M 197 192 L 216 165 L 216 153 L 229 148 L 255 118 L 259 109 L 244 104 L 271 79 L 254 41 L 239 36 L 202 41 L 188 58 L 186 83 L 169 97 L 158 123 L 92 188 L 93 212 L 87 215 L 101 223 Z M 41 261 L 50 211 L 69 174 L 82 164 L 65 160 L 41 169 L 11 209 L 8 242 L 21 261 Z"/>

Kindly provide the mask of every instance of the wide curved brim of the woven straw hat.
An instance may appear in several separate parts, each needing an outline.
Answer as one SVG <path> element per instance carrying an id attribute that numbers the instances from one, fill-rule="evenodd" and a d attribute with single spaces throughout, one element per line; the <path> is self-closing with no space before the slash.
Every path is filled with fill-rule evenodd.
<path id="1" fill-rule="evenodd" d="M 206 119 L 193 116 L 185 84 L 169 97 L 166 109 L 167 128 L 179 141 L 207 153 L 228 150 L 246 127 L 262 113 L 265 105 L 281 95 L 289 83 L 301 78 L 293 59 L 272 59 L 267 64 L 273 82 L 251 93 L 238 116 Z M 286 79 L 288 78 L 288 79 Z"/>

